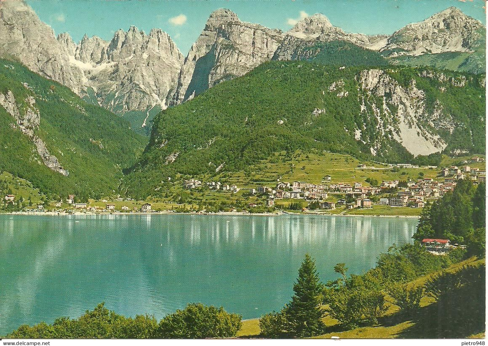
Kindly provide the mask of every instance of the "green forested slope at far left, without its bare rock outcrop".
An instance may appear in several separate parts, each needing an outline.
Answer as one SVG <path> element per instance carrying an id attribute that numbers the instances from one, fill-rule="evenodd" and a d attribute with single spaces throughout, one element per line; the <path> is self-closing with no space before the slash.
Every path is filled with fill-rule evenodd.
<path id="1" fill-rule="evenodd" d="M 23 84 L 26 83 L 26 84 Z M 88 104 L 61 84 L 24 66 L 0 60 L 0 93 L 11 91 L 18 108 L 33 96 L 41 123 L 35 131 L 69 175 L 51 171 L 41 163 L 32 141 L 15 119 L 0 107 L 0 170 L 26 179 L 42 192 L 56 195 L 100 195 L 119 186 L 122 168 L 142 152 L 144 139 L 120 117 Z"/>

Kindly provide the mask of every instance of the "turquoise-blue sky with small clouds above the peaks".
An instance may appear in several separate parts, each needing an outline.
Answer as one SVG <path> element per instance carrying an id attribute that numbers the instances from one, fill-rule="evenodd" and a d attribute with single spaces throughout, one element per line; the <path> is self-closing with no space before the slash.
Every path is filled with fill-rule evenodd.
<path id="1" fill-rule="evenodd" d="M 131 25 L 161 28 L 186 55 L 210 13 L 228 8 L 243 21 L 289 30 L 305 15 L 323 13 L 346 32 L 391 34 L 449 6 L 486 25 L 484 0 L 26 0 L 56 34 L 78 42 L 84 34 L 110 40 Z"/>

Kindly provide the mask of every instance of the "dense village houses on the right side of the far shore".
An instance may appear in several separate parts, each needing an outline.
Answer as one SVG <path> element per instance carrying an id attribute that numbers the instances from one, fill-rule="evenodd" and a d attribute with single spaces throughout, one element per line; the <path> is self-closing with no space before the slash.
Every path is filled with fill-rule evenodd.
<path id="1" fill-rule="evenodd" d="M 484 159 L 473 157 L 472 162 L 481 162 Z M 464 163 L 468 164 L 468 161 Z M 419 168 L 411 164 L 397 164 L 402 168 Z M 359 168 L 364 168 L 362 164 Z M 434 200 L 442 197 L 446 192 L 452 191 L 456 181 L 470 179 L 474 184 L 486 180 L 486 171 L 479 168 L 470 168 L 468 165 L 459 168 L 457 166 L 445 167 L 442 169 L 442 180 L 423 178 L 416 181 L 382 181 L 377 186 L 363 186 L 360 182 L 344 183 L 332 181 L 331 175 L 325 175 L 323 184 L 312 184 L 302 181 L 278 182 L 274 187 L 257 186 L 249 189 L 250 195 L 261 195 L 266 197 L 266 206 L 272 207 L 279 200 L 305 200 L 318 203 L 317 208 L 323 210 L 335 210 L 338 206 L 346 209 L 371 208 L 374 204 L 390 207 L 413 207 L 423 208 L 426 200 Z M 198 189 L 203 182 L 196 179 L 185 180 L 185 189 Z M 238 192 L 241 190 L 237 185 L 228 185 L 221 182 L 210 181 L 206 183 L 210 190 Z M 256 207 L 256 203 L 250 203 L 250 207 Z M 306 208 L 304 208 L 305 210 Z"/>

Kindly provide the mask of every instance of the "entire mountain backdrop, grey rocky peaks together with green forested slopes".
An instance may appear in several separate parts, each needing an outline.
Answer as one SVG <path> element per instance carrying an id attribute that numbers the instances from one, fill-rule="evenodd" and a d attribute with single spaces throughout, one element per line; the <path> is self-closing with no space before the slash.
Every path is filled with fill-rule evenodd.
<path id="1" fill-rule="evenodd" d="M 455 7 L 369 36 L 219 9 L 186 57 L 161 29 L 55 36 L 23 1 L 0 1 L 0 32 L 0 171 L 48 196 L 143 199 L 296 151 L 485 153 L 486 29 Z"/>

